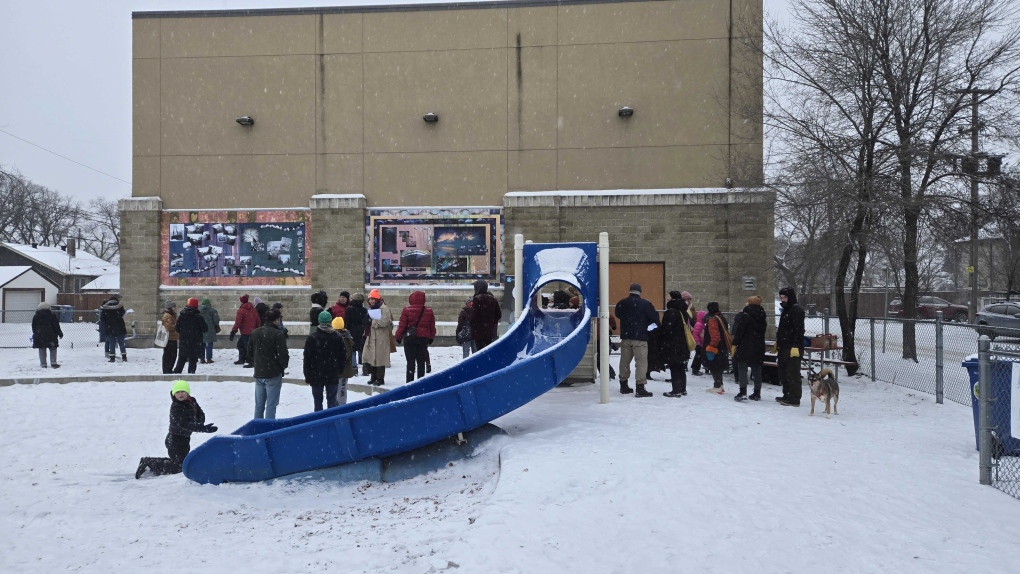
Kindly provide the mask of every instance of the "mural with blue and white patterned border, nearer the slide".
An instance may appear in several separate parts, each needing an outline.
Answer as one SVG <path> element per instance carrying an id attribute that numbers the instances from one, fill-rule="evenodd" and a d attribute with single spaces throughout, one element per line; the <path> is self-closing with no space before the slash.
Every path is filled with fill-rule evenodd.
<path id="1" fill-rule="evenodd" d="M 501 283 L 499 208 L 369 209 L 365 216 L 370 284 Z"/>

